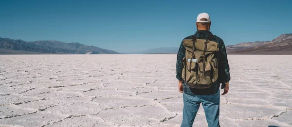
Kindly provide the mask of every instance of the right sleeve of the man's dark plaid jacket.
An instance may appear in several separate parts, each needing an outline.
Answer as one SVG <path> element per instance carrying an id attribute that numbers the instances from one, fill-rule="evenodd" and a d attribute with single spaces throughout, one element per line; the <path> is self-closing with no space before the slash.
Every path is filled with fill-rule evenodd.
<path id="1" fill-rule="evenodd" d="M 221 48 L 220 48 L 220 58 L 219 61 L 221 62 L 221 75 L 222 75 L 222 80 L 221 83 L 223 85 L 225 85 L 225 82 L 228 82 L 230 80 L 230 72 L 229 72 L 229 64 L 228 64 L 228 59 L 227 59 L 227 52 L 226 52 L 226 48 L 224 45 L 223 40 L 221 40 Z M 223 82 L 224 81 L 224 82 Z"/>

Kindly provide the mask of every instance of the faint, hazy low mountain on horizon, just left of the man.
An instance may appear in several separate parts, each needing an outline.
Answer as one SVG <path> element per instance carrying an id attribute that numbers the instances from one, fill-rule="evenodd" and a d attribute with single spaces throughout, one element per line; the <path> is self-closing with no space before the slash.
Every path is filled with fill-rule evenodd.
<path id="1" fill-rule="evenodd" d="M 127 54 L 176 54 L 179 48 L 152 48 L 141 52 L 128 52 Z"/>

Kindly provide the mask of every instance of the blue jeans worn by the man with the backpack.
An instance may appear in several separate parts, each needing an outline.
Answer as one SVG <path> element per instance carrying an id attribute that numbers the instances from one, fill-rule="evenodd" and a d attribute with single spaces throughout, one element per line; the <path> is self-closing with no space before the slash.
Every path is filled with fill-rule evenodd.
<path id="1" fill-rule="evenodd" d="M 192 127 L 200 104 L 205 111 L 208 127 L 220 127 L 220 90 L 214 95 L 187 95 L 183 92 L 183 122 L 181 127 Z"/>

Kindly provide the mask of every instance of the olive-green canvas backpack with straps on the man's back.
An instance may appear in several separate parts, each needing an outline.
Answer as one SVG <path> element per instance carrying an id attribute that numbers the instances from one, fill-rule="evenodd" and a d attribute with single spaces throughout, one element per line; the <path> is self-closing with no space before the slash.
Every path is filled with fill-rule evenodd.
<path id="1" fill-rule="evenodd" d="M 182 78 L 190 88 L 206 89 L 218 79 L 219 44 L 207 39 L 184 39 L 185 57 L 183 58 Z"/>

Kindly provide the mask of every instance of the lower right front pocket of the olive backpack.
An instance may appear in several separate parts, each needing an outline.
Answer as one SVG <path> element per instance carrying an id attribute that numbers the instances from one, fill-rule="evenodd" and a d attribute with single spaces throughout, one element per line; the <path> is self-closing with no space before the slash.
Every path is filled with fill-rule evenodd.
<path id="1" fill-rule="evenodd" d="M 211 80 L 211 64 L 210 62 L 205 63 L 205 72 L 203 74 L 203 63 L 198 63 L 199 71 L 198 71 L 198 85 L 210 85 L 212 83 Z"/>

